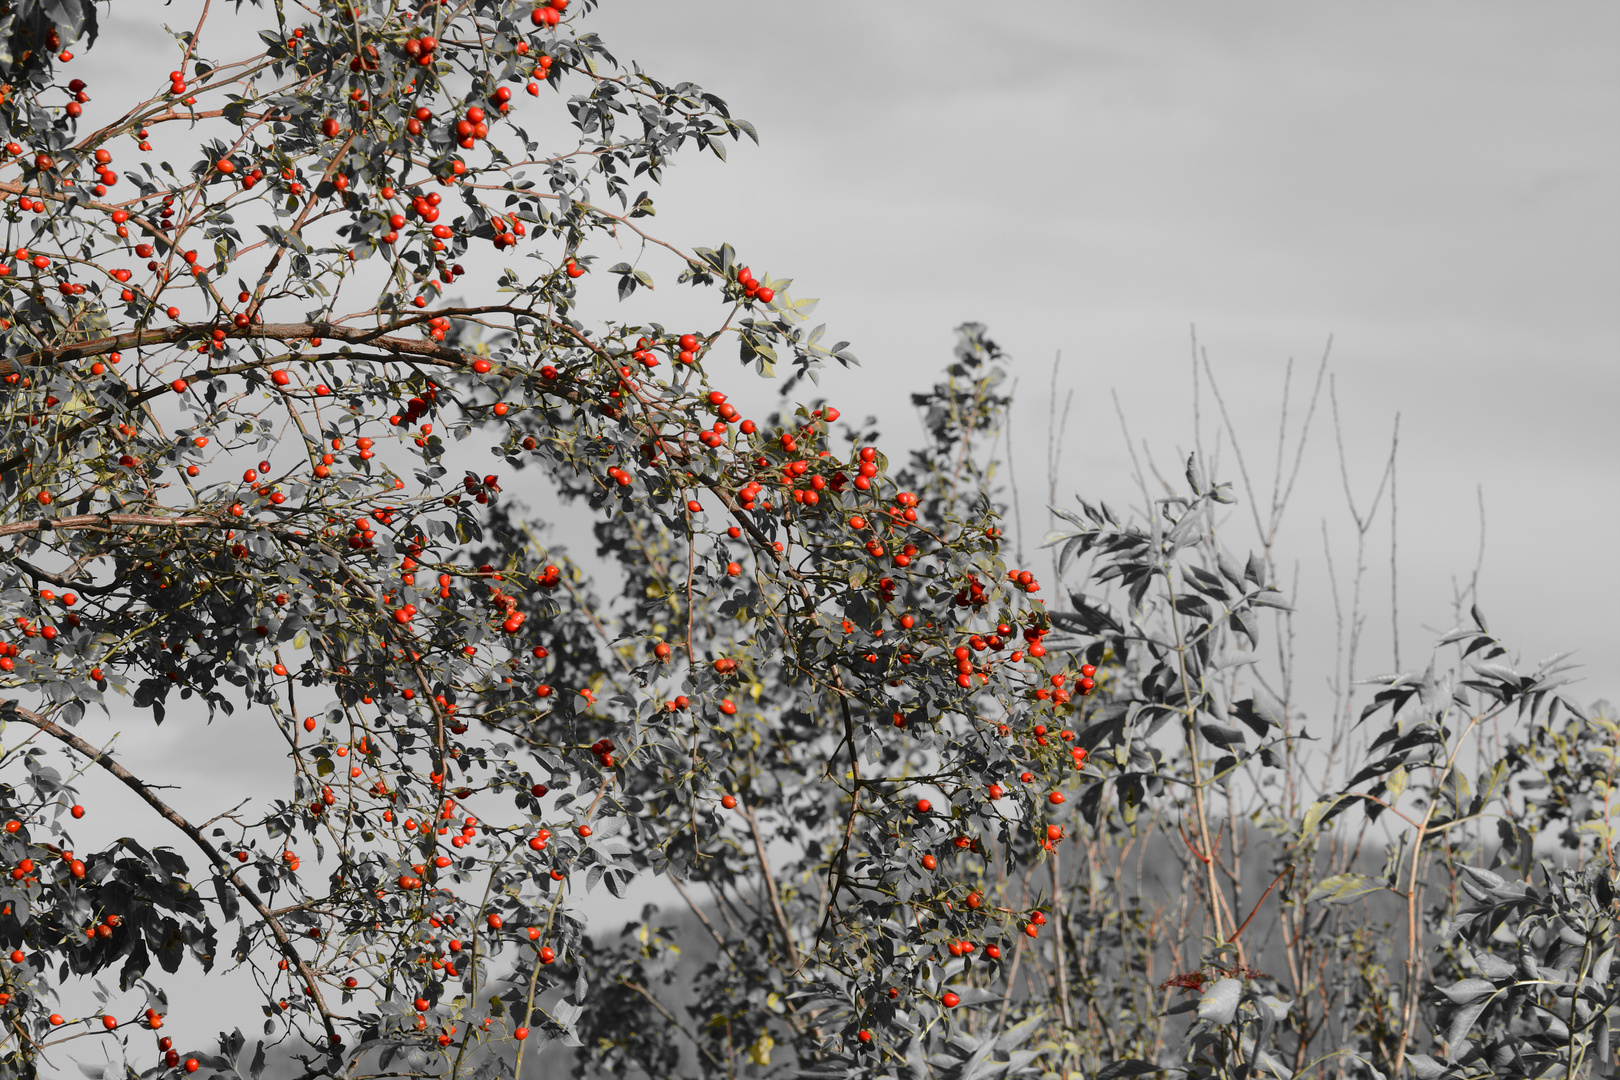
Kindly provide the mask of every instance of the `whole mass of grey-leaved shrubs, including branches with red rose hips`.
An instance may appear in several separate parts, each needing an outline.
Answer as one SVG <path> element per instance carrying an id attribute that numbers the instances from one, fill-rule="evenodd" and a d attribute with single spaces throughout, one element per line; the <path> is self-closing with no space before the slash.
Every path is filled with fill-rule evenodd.
<path id="1" fill-rule="evenodd" d="M 742 416 L 739 356 L 854 356 L 646 232 L 677 152 L 753 131 L 593 6 L 277 3 L 251 57 L 204 8 L 94 130 L 92 5 L 3 6 L 5 1070 L 1612 1069 L 1612 714 L 1474 610 L 1307 732 L 1275 526 L 1231 555 L 1200 455 L 1019 565 L 980 325 L 906 461 L 826 402 Z M 601 277 L 711 317 L 590 322 Z M 78 733 L 104 709 L 272 725 L 280 797 L 186 819 Z M 107 782 L 149 813 L 89 850 Z M 586 934 L 645 876 L 685 939 Z M 227 967 L 262 1028 L 177 1044 L 165 984 Z"/>

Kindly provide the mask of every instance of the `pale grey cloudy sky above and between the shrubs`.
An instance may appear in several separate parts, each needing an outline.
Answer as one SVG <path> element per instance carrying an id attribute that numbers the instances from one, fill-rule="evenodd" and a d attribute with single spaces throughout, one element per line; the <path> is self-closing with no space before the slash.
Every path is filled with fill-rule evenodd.
<path id="1" fill-rule="evenodd" d="M 75 65 L 97 107 L 115 115 L 159 89 L 178 57 L 160 23 L 190 28 L 196 10 L 115 3 L 102 47 Z M 248 23 L 215 32 L 251 45 Z M 816 321 L 863 359 L 823 392 L 876 413 L 891 453 L 917 440 L 906 395 L 948 359 L 954 325 L 983 321 L 1016 356 L 1025 549 L 1045 529 L 1055 353 L 1059 395 L 1076 392 L 1061 499 L 1124 505 L 1139 497 L 1110 392 L 1178 476 L 1189 327 L 1265 491 L 1285 363 L 1298 361 L 1298 421 L 1333 335 L 1362 502 L 1401 413 L 1406 667 L 1452 625 L 1453 580 L 1473 572 L 1477 486 L 1492 628 L 1529 661 L 1580 649 L 1580 696 L 1620 693 L 1620 5 L 630 0 L 590 24 L 620 58 L 700 83 L 758 128 L 761 146 L 729 147 L 726 165 L 677 159 L 653 228 L 731 241 L 820 296 Z M 585 314 L 714 319 L 669 285 L 640 300 Z M 713 366 L 723 385 L 763 406 L 768 387 L 731 363 Z M 1333 648 L 1324 525 L 1340 568 L 1353 559 L 1325 419 L 1281 536 L 1301 565 L 1299 704 L 1317 712 Z M 1205 392 L 1207 445 L 1213 423 Z M 1228 542 L 1243 549 L 1239 510 Z M 1364 674 L 1392 665 L 1387 510 L 1371 542 Z M 282 759 L 262 735 L 243 717 L 170 722 L 118 753 L 136 772 L 178 766 L 177 805 L 207 818 L 256 772 L 222 774 L 220 755 Z M 146 814 L 105 798 L 81 842 Z M 177 994 L 172 1028 L 243 1018 L 219 980 Z"/>

